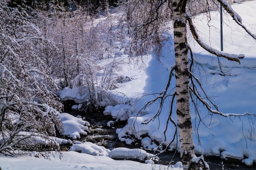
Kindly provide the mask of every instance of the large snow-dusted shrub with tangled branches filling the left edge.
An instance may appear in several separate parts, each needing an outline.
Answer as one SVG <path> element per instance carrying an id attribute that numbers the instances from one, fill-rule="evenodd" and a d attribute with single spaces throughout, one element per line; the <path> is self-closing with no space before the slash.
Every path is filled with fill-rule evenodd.
<path id="1" fill-rule="evenodd" d="M 62 128 L 58 110 L 63 105 L 44 55 L 38 53 L 47 40 L 22 9 L 4 0 L 0 13 L 0 152 L 58 150 L 51 136 L 56 126 Z"/>

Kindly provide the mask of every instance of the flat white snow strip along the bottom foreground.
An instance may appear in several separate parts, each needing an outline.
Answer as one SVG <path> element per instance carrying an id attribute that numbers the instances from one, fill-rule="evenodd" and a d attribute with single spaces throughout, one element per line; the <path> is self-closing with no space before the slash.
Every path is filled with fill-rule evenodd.
<path id="1" fill-rule="evenodd" d="M 92 156 L 79 152 L 63 152 L 62 159 L 58 154 L 51 160 L 36 157 L 0 157 L 2 170 L 160 170 L 167 169 L 162 165 L 151 165 L 135 161 L 115 161 L 106 156 Z M 179 170 L 174 168 L 173 170 Z"/>

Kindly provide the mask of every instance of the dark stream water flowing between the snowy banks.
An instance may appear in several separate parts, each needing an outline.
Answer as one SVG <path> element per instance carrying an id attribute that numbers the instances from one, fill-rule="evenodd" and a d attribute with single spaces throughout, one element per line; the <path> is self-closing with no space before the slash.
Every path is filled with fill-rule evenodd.
<path id="1" fill-rule="evenodd" d="M 97 113 L 84 113 L 74 110 L 65 110 L 66 113 L 69 113 L 73 116 L 84 117 L 86 121 L 90 123 L 89 132 L 86 136 L 81 136 L 79 140 L 81 142 L 90 141 L 99 146 L 104 146 L 108 149 L 113 149 L 117 147 L 126 147 L 126 148 L 140 148 L 141 146 L 130 146 L 118 140 L 116 129 L 122 128 L 126 124 L 126 121 L 115 122 L 112 126 L 107 126 L 109 121 L 115 121 L 111 116 L 103 115 L 102 111 Z M 68 147 L 68 146 L 65 146 Z M 150 152 L 149 150 L 146 150 Z M 153 152 L 151 152 L 153 153 Z M 169 165 L 171 160 L 173 163 L 180 161 L 179 153 L 175 152 L 164 152 L 158 156 L 160 158 L 159 164 Z M 240 160 L 230 160 L 229 162 L 223 161 L 220 157 L 204 157 L 207 163 L 210 166 L 210 170 L 256 170 L 256 166 L 248 168 L 245 167 Z M 138 161 L 138 160 L 135 160 Z M 222 168 L 223 167 L 223 168 Z M 171 168 L 170 168 L 171 169 Z"/>

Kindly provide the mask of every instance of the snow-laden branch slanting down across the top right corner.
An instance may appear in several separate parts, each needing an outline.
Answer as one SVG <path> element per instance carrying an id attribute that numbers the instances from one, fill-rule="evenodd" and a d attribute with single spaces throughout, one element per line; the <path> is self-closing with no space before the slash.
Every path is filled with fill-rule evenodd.
<path id="1" fill-rule="evenodd" d="M 235 22 L 240 25 L 249 35 L 251 35 L 252 38 L 254 38 L 256 40 L 256 35 L 253 34 L 251 31 L 249 31 L 245 25 L 242 24 L 242 18 L 240 17 L 240 15 L 238 15 L 238 13 L 236 13 L 232 7 L 227 3 L 226 0 L 217 0 L 218 2 L 220 2 L 220 4 L 222 5 L 222 7 L 229 13 L 229 15 L 231 15 L 231 17 L 235 20 Z"/>

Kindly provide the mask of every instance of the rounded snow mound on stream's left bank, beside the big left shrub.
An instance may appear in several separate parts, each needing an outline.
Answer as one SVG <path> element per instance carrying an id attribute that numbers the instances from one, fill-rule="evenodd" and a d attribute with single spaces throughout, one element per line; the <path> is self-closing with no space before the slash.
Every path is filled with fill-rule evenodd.
<path id="1" fill-rule="evenodd" d="M 81 117 L 74 117 L 68 113 L 61 113 L 63 123 L 62 134 L 72 139 L 80 139 L 80 135 L 87 135 L 88 126 L 90 123 L 84 121 Z"/>

